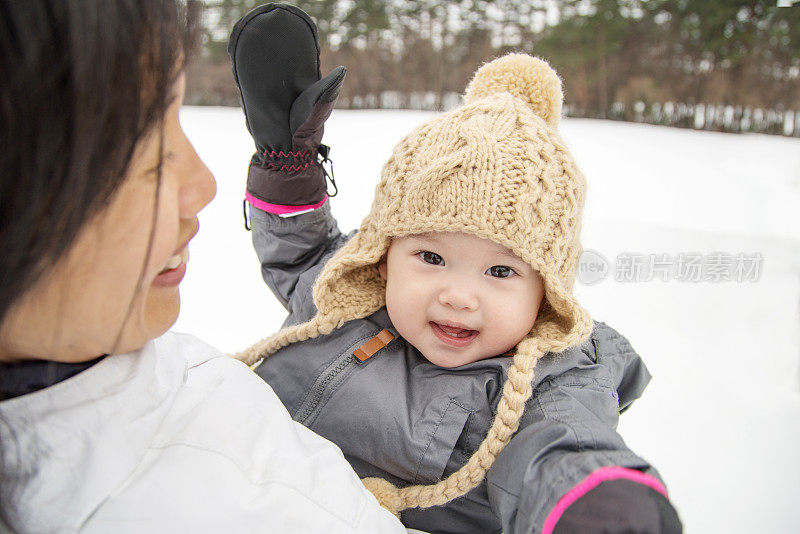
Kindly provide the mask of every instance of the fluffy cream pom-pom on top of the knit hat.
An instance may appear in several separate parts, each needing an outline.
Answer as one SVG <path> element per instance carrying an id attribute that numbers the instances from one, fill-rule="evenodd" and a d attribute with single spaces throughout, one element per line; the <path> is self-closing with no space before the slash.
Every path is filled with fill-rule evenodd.
<path id="1" fill-rule="evenodd" d="M 475 73 L 464 94 L 467 103 L 496 93 L 511 93 L 525 101 L 550 126 L 561 119 L 561 79 L 550 65 L 527 54 L 508 54 L 486 63 Z"/>

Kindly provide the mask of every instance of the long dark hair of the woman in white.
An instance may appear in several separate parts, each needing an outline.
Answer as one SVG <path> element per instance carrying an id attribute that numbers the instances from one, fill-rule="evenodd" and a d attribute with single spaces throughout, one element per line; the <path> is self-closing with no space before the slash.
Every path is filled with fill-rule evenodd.
<path id="1" fill-rule="evenodd" d="M 0 324 L 125 178 L 194 48 L 192 0 L 0 0 Z"/>

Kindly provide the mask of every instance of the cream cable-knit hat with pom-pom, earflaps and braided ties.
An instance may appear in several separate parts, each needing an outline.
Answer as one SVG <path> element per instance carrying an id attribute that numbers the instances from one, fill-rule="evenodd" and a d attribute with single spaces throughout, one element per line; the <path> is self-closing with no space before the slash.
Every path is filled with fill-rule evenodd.
<path id="1" fill-rule="evenodd" d="M 586 183 L 558 134 L 562 100 L 561 80 L 541 59 L 509 54 L 483 65 L 463 106 L 422 124 L 395 147 L 359 232 L 314 284 L 317 315 L 236 355 L 253 364 L 383 307 L 386 286 L 377 266 L 393 237 L 464 232 L 507 247 L 536 269 L 545 300 L 517 346 L 497 416 L 477 452 L 430 486 L 398 489 L 365 479 L 394 513 L 444 504 L 480 484 L 519 426 L 536 362 L 591 333 L 592 321 L 572 295 Z"/>

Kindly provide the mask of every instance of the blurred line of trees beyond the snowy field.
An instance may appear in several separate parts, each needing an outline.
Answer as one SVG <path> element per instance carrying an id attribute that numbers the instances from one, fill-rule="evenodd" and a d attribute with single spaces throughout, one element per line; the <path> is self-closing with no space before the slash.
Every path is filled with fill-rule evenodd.
<path id="1" fill-rule="evenodd" d="M 237 105 L 225 52 L 260 2 L 207 0 L 187 101 Z M 340 107 L 448 109 L 509 51 L 546 58 L 570 116 L 800 136 L 800 3 L 698 0 L 319 0 L 322 67 Z"/>

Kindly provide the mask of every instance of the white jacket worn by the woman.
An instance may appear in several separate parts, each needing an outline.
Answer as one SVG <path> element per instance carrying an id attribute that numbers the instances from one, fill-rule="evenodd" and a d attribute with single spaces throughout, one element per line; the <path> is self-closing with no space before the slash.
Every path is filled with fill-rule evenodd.
<path id="1" fill-rule="evenodd" d="M 0 402 L 0 531 L 406 532 L 261 378 L 175 333 Z"/>

